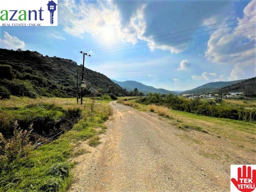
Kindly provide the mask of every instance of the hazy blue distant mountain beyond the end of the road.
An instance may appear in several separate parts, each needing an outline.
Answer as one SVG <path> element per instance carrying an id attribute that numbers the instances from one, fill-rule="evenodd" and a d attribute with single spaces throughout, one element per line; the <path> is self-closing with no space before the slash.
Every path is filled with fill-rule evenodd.
<path id="1" fill-rule="evenodd" d="M 169 91 L 161 88 L 154 88 L 152 86 L 147 86 L 137 81 L 116 81 L 113 79 L 112 81 L 120 85 L 122 88 L 126 89 L 127 91 L 133 91 L 134 88 L 138 88 L 139 92 L 143 92 L 145 94 L 148 94 L 149 92 L 161 93 L 161 94 L 168 94 L 168 93 L 177 94 L 177 92 L 173 92 L 173 91 Z"/>

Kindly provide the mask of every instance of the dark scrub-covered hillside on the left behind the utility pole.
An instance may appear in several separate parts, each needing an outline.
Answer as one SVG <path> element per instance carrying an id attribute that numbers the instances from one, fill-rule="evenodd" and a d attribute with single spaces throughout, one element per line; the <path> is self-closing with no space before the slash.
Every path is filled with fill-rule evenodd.
<path id="1" fill-rule="evenodd" d="M 16 96 L 73 97 L 76 96 L 77 71 L 79 84 L 82 75 L 82 65 L 78 66 L 70 59 L 43 56 L 29 50 L 0 49 L 0 67 L 0 87 L 4 86 Z M 98 96 L 110 93 L 129 95 L 107 76 L 90 69 L 85 72 L 87 87 L 84 94 L 90 95 L 89 89 L 94 88 L 98 90 Z"/>

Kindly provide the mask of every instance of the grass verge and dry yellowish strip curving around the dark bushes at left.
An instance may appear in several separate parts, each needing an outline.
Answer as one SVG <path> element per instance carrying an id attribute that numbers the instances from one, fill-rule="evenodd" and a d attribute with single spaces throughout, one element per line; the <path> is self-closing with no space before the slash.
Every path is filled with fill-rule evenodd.
<path id="1" fill-rule="evenodd" d="M 12 101 L 12 102 L 11 102 Z M 18 102 L 18 103 L 16 103 Z M 110 101 L 84 98 L 82 106 L 76 105 L 76 98 L 17 98 L 1 101 L 1 108 L 26 108 L 35 104 L 54 104 L 64 108 L 79 108 L 81 118 L 73 128 L 48 144 L 31 150 L 27 156 L 8 162 L 0 156 L 0 191 L 2 192 L 64 192 L 72 182 L 70 169 L 75 166 L 70 158 L 88 153 L 79 150 L 81 141 L 89 139 L 88 144 L 96 146 L 100 143 L 98 134 L 106 130 L 102 123 L 112 113 Z M 94 106 L 92 108 L 92 105 Z M 20 109 L 21 110 L 21 109 Z M 40 110 L 37 111 L 40 114 Z M 25 114 L 25 113 L 24 113 Z M 61 114 L 56 114 L 61 115 Z M 22 114 L 20 114 L 22 118 Z M 75 150 L 78 148 L 78 150 Z"/>

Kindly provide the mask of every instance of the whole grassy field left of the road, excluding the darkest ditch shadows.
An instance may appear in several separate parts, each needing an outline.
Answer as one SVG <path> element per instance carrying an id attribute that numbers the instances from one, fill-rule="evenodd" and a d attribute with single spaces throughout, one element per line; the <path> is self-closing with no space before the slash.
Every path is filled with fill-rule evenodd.
<path id="1" fill-rule="evenodd" d="M 109 97 L 104 100 L 84 98 L 84 104 L 80 106 L 76 104 L 76 98 L 30 99 L 12 96 L 10 100 L 1 100 L 2 125 L 6 119 L 11 120 L 12 124 L 15 120 L 19 121 L 16 118 L 33 118 L 35 121 L 41 118 L 44 122 L 49 120 L 49 124 L 62 121 L 70 127 L 60 126 L 59 130 L 55 130 L 61 132 L 60 136 L 56 135 L 52 140 L 45 141 L 48 137 L 37 134 L 40 140 L 28 142 L 20 148 L 16 146 L 24 142 L 20 136 L 26 136 L 24 132 L 14 134 L 15 138 L 12 135 L 3 135 L 4 140 L 0 137 L 0 191 L 65 191 L 72 180 L 70 169 L 75 166 L 75 163 L 70 163 L 70 159 L 88 153 L 80 147 L 84 141 L 90 146 L 100 143 L 98 135 L 105 131 L 103 123 L 112 113 L 108 104 L 110 101 Z M 78 115 L 69 119 L 73 112 Z M 32 114 L 32 117 L 22 115 L 27 113 Z M 18 128 L 20 125 L 16 126 Z"/>

